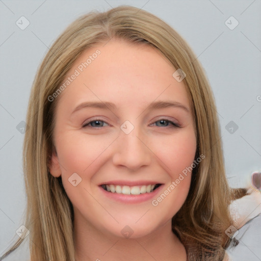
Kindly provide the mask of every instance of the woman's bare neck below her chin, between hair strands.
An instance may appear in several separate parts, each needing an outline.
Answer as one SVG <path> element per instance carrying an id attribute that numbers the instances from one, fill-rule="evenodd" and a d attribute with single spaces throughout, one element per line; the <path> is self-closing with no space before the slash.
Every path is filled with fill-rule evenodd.
<path id="1" fill-rule="evenodd" d="M 172 232 L 171 220 L 144 237 L 126 239 L 97 230 L 74 213 L 74 239 L 76 261 L 186 261 L 185 247 Z"/>

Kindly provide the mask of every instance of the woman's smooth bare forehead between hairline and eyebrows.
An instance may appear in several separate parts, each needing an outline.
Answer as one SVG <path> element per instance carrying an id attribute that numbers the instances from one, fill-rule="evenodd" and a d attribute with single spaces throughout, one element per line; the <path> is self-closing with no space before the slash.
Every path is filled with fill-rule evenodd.
<path id="1" fill-rule="evenodd" d="M 63 82 L 68 85 L 59 103 L 73 107 L 102 100 L 136 108 L 153 100 L 172 99 L 190 108 L 185 85 L 172 76 L 175 71 L 170 61 L 148 44 L 110 40 L 76 59 Z"/>

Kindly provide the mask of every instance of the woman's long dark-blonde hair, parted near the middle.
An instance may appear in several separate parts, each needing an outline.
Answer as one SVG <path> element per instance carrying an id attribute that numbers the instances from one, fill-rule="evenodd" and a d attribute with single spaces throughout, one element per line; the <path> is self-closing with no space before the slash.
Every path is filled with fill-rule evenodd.
<path id="1" fill-rule="evenodd" d="M 172 228 L 184 244 L 188 260 L 222 260 L 230 243 L 225 230 L 233 224 L 228 208 L 233 194 L 226 181 L 210 85 L 188 44 L 168 24 L 146 11 L 120 6 L 104 13 L 88 13 L 69 25 L 49 49 L 33 83 L 23 146 L 27 193 L 24 225 L 30 230 L 31 261 L 74 261 L 72 204 L 61 178 L 48 172 L 59 99 L 50 102 L 47 97 L 57 91 L 84 50 L 112 38 L 156 47 L 174 68 L 187 74 L 183 82 L 195 120 L 195 159 L 201 154 L 205 159 L 193 169 L 188 197 L 172 218 Z M 19 238 L 3 257 L 22 241 Z"/>

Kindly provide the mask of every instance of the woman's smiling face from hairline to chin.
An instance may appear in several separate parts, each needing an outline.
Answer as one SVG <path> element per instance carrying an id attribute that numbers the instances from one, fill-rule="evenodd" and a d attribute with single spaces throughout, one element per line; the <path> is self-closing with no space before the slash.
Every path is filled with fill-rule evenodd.
<path id="1" fill-rule="evenodd" d="M 149 45 L 110 40 L 85 51 L 52 96 L 50 172 L 62 175 L 79 225 L 142 237 L 185 202 L 196 137 L 176 69 Z"/>

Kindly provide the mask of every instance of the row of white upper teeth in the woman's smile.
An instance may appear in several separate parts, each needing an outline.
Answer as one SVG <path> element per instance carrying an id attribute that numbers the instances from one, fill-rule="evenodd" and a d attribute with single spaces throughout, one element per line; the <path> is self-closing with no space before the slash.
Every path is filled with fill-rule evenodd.
<path id="1" fill-rule="evenodd" d="M 133 186 L 133 187 L 129 187 L 129 186 L 119 186 L 119 185 L 106 185 L 104 187 L 106 187 L 106 190 L 112 193 L 118 193 L 118 194 L 125 194 L 125 195 L 139 195 L 139 194 L 144 194 L 144 193 L 150 193 L 153 191 L 153 189 L 155 188 L 155 184 L 154 185 L 148 185 L 148 186 Z"/>

